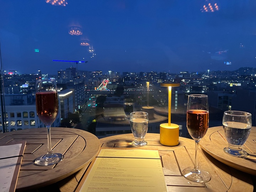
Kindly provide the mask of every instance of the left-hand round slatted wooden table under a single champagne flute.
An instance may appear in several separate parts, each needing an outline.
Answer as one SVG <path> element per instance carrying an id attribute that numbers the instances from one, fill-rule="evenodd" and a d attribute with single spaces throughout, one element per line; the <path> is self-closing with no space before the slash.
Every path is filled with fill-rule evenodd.
<path id="1" fill-rule="evenodd" d="M 18 175 L 17 191 L 40 191 L 40 188 L 44 191 L 42 187 L 52 183 L 57 185 L 55 188 L 62 190 L 65 185 L 64 190 L 72 191 L 74 188 L 68 188 L 68 183 L 82 177 L 86 167 L 100 150 L 98 138 L 89 132 L 51 128 L 53 152 L 64 154 L 64 159 L 57 165 L 38 166 L 34 164 L 34 159 L 47 153 L 47 129 L 34 128 L 0 134 L 0 144 L 19 140 L 26 140 L 27 144 Z M 74 183 L 74 187 L 76 185 L 78 182 Z"/>

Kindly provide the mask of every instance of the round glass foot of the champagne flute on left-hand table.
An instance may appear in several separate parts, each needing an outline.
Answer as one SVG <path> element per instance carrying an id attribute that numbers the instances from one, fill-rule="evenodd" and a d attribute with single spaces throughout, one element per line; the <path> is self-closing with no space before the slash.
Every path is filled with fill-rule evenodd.
<path id="1" fill-rule="evenodd" d="M 62 161 L 63 158 L 64 158 L 64 155 L 60 153 L 53 153 L 53 154 L 47 153 L 45 155 L 42 155 L 39 158 L 36 158 L 35 164 L 41 165 L 41 166 L 54 165 Z"/>

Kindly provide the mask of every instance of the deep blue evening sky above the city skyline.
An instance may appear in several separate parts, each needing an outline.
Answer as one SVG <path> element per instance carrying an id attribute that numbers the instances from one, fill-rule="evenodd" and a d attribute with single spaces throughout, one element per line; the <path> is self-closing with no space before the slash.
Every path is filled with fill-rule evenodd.
<path id="1" fill-rule="evenodd" d="M 57 74 L 76 67 L 53 60 L 88 61 L 78 69 L 103 73 L 256 67 L 255 0 L 209 0 L 217 2 L 214 12 L 201 12 L 204 0 L 66 1 L 0 0 L 3 70 Z M 71 36 L 71 26 L 82 35 Z M 93 58 L 81 40 L 94 48 Z"/>

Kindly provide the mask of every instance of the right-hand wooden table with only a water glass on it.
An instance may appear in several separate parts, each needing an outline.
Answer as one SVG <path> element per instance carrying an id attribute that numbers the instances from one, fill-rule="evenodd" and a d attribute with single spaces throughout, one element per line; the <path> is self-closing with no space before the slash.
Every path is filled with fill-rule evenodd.
<path id="1" fill-rule="evenodd" d="M 227 147 L 228 143 L 226 142 L 222 126 L 209 128 L 200 143 L 201 147 L 215 159 L 235 169 L 256 175 L 256 162 L 234 157 L 223 151 L 223 148 Z M 250 135 L 243 145 L 243 149 L 256 157 L 256 127 L 251 128 Z"/>

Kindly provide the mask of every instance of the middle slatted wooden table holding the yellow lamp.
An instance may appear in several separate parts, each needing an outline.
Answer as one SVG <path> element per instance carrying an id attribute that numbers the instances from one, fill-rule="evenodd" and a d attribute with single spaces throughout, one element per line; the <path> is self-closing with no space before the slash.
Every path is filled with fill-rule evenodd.
<path id="1" fill-rule="evenodd" d="M 114 135 L 100 139 L 100 143 L 102 148 L 136 148 L 131 145 L 133 139 L 133 134 Z M 188 181 L 181 171 L 194 166 L 194 140 L 180 137 L 177 146 L 164 146 L 159 139 L 159 134 L 147 133 L 148 145 L 139 149 L 159 150 L 168 191 L 253 191 L 250 174 L 223 164 L 202 149 L 199 150 L 199 168 L 208 171 L 212 178 L 206 183 Z"/>

